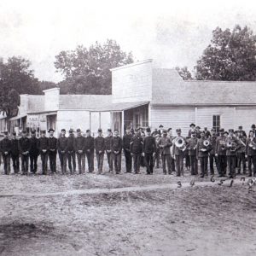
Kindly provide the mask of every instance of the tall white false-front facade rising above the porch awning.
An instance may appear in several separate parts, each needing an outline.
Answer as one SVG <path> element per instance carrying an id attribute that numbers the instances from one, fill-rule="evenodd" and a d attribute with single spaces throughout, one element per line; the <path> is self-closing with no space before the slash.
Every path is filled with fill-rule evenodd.
<path id="1" fill-rule="evenodd" d="M 113 103 L 151 100 L 152 63 L 143 62 L 112 71 Z"/>

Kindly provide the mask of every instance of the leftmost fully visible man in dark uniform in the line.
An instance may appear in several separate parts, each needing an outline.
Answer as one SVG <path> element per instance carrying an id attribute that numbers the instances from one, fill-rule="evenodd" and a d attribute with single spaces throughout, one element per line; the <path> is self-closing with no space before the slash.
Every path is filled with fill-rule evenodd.
<path id="1" fill-rule="evenodd" d="M 3 157 L 3 170 L 4 174 L 9 175 L 10 173 L 10 154 L 12 143 L 8 137 L 8 131 L 4 131 L 3 140 L 0 143 L 1 153 Z"/>

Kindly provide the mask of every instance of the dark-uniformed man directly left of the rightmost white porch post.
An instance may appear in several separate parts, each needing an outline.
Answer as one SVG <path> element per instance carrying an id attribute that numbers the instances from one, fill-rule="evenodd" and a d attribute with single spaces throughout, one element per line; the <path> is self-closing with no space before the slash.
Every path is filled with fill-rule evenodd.
<path id="1" fill-rule="evenodd" d="M 114 171 L 116 174 L 121 172 L 121 160 L 122 160 L 122 139 L 119 137 L 119 131 L 113 131 L 113 137 L 110 141 L 110 148 L 112 151 L 112 159 L 114 164 Z"/>

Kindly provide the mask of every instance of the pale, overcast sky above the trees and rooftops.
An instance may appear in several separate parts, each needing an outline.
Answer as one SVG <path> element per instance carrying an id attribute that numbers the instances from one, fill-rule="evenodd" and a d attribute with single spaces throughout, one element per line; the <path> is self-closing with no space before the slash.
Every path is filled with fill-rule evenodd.
<path id="1" fill-rule="evenodd" d="M 111 38 L 135 61 L 193 70 L 212 30 L 236 24 L 256 34 L 255 0 L 0 0 L 0 57 L 25 57 L 38 79 L 59 82 L 55 55 Z"/>

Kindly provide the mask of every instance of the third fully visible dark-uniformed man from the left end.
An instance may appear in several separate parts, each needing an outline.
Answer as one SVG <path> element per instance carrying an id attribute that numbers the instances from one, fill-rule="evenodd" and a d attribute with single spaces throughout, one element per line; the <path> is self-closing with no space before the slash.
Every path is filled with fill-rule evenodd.
<path id="1" fill-rule="evenodd" d="M 22 174 L 28 173 L 28 162 L 29 162 L 29 153 L 31 150 L 31 142 L 28 137 L 26 137 L 26 131 L 22 131 L 22 137 L 19 140 L 19 151 L 21 158 L 21 171 Z"/>

